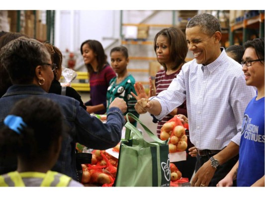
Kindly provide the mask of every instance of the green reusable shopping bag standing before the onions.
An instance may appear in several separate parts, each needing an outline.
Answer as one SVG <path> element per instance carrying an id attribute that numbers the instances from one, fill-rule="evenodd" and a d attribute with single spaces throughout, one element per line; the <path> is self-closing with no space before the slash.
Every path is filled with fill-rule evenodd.
<path id="1" fill-rule="evenodd" d="M 129 122 L 128 116 L 141 124 L 154 141 L 144 140 L 143 134 Z M 125 140 L 121 141 L 114 186 L 169 187 L 171 180 L 168 140 L 154 135 L 136 116 L 127 113 Z M 131 138 L 132 137 L 132 138 Z"/>

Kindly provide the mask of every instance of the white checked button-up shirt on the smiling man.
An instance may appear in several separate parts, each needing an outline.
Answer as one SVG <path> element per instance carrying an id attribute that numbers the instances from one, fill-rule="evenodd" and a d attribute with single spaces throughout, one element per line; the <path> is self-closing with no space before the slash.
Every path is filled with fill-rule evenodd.
<path id="1" fill-rule="evenodd" d="M 222 150 L 230 141 L 239 145 L 244 111 L 256 96 L 242 66 L 221 50 L 209 65 L 195 59 L 183 65 L 168 90 L 150 98 L 161 103 L 159 120 L 186 100 L 190 141 L 199 150 Z"/>

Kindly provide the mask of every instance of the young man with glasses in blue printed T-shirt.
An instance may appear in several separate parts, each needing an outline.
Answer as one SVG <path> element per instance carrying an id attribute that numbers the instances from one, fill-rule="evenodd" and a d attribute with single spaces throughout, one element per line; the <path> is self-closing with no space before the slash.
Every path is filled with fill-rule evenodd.
<path id="1" fill-rule="evenodd" d="M 247 41 L 244 47 L 246 50 L 242 60 L 242 70 L 245 74 L 246 84 L 256 87 L 258 93 L 245 110 L 239 161 L 217 184 L 218 187 L 231 187 L 233 180 L 237 180 L 238 187 L 265 186 L 264 38 Z"/>

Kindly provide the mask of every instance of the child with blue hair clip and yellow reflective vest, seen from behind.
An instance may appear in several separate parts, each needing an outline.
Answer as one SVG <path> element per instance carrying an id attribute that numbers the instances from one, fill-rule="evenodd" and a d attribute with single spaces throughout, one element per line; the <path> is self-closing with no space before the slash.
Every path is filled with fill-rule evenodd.
<path id="1" fill-rule="evenodd" d="M 83 187 L 71 177 L 50 171 L 63 139 L 63 116 L 57 103 L 36 96 L 18 101 L 0 129 L 0 151 L 17 156 L 17 170 L 0 176 L 0 187 Z M 1 154 L 0 154 L 1 156 Z"/>

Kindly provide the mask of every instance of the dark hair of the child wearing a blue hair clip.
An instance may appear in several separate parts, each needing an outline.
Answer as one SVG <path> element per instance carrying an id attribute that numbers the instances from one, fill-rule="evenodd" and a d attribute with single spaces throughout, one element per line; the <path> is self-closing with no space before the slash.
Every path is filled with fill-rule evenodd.
<path id="1" fill-rule="evenodd" d="M 0 151 L 25 159 L 46 157 L 63 132 L 60 106 L 51 99 L 31 96 L 17 101 L 9 114 L 20 116 L 27 125 L 20 134 L 3 126 L 0 130 Z"/>

